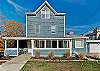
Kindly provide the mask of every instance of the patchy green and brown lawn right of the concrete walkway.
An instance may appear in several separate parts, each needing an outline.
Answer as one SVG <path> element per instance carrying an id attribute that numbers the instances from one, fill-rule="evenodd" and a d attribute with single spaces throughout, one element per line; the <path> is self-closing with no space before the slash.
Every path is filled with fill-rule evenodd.
<path id="1" fill-rule="evenodd" d="M 28 61 L 21 71 L 100 71 L 100 61 L 34 62 Z"/>

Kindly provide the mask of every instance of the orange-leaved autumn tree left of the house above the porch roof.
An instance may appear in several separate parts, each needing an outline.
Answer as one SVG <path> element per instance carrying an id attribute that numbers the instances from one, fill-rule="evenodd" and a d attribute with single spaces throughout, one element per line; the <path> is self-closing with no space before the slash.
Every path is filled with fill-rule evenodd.
<path id="1" fill-rule="evenodd" d="M 23 36 L 23 28 L 21 23 L 17 23 L 16 21 L 7 21 L 6 24 L 2 25 L 2 27 L 4 28 L 2 31 L 2 36 Z"/>

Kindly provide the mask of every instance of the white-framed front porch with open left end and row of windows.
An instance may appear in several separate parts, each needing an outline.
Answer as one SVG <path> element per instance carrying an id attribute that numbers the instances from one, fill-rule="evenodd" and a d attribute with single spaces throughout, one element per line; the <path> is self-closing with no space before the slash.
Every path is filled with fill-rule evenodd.
<path id="1" fill-rule="evenodd" d="M 5 56 L 18 56 L 21 45 L 25 45 L 32 56 L 35 56 L 37 50 L 40 51 L 40 56 L 47 56 L 49 51 L 53 51 L 56 56 L 62 56 L 65 52 L 72 54 L 72 38 L 2 37 L 2 39 L 5 40 Z M 8 40 L 14 40 L 15 46 L 9 48 Z M 27 45 L 21 44 L 23 40 L 27 41 Z"/>

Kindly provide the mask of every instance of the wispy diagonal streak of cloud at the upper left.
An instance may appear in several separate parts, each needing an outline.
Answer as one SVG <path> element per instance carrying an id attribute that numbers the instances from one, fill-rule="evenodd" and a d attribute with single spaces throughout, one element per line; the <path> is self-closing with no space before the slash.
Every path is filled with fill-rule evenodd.
<path id="1" fill-rule="evenodd" d="M 20 16 L 23 15 L 24 12 L 26 11 L 25 8 L 23 8 L 22 6 L 18 5 L 17 3 L 13 2 L 12 0 L 7 0 L 7 2 L 9 4 L 11 4 L 15 8 L 17 14 L 19 14 Z"/>

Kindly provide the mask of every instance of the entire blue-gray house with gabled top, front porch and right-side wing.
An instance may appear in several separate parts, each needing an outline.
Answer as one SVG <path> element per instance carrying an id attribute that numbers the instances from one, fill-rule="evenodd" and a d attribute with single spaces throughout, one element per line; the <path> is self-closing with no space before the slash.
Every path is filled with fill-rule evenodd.
<path id="1" fill-rule="evenodd" d="M 35 12 L 26 13 L 26 37 L 2 37 L 5 40 L 4 55 L 18 56 L 21 49 L 35 56 L 37 50 L 41 56 L 53 51 L 56 56 L 69 52 L 88 53 L 88 37 L 65 36 L 65 13 L 57 13 L 45 1 Z M 9 44 L 8 40 L 12 44 Z M 10 46 L 10 47 L 9 47 Z"/>

